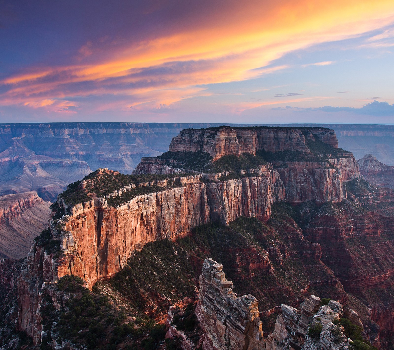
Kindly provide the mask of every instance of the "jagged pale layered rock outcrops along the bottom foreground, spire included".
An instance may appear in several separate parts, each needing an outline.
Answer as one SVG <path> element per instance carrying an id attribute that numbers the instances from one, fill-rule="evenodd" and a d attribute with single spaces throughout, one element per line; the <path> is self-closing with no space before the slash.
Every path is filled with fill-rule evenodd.
<path id="1" fill-rule="evenodd" d="M 222 269 L 220 263 L 206 259 L 199 278 L 195 314 L 203 330 L 199 342 L 203 350 L 349 349 L 351 339 L 336 322 L 344 314 L 342 305 L 331 300 L 322 306 L 314 295 L 301 303 L 300 310 L 282 304 L 274 331 L 265 339 L 258 301 L 251 294 L 237 297 Z M 352 320 L 360 323 L 355 311 L 347 311 Z"/>

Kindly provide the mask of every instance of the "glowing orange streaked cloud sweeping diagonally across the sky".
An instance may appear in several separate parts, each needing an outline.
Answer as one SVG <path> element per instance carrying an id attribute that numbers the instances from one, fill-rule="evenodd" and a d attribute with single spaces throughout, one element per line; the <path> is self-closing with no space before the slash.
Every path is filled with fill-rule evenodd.
<path id="1" fill-rule="evenodd" d="M 201 26 L 178 28 L 165 36 L 158 33 L 105 54 L 88 42 L 79 54 L 90 63 L 77 60 L 5 78 L 0 81 L 7 88 L 0 104 L 46 107 L 59 98 L 122 94 L 136 98 L 132 103 L 168 105 L 201 94 L 203 89 L 196 85 L 256 78 L 286 68 L 264 69 L 288 52 L 355 37 L 394 22 L 392 0 L 225 4 L 220 11 L 204 14 Z"/>

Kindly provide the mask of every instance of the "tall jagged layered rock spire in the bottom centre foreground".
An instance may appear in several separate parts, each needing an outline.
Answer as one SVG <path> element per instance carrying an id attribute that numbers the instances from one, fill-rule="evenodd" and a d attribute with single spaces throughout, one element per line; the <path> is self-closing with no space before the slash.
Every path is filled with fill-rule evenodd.
<path id="1" fill-rule="evenodd" d="M 222 269 L 223 265 L 206 259 L 199 278 L 195 313 L 204 332 L 203 350 L 264 348 L 257 299 L 232 293 L 232 282 Z"/>

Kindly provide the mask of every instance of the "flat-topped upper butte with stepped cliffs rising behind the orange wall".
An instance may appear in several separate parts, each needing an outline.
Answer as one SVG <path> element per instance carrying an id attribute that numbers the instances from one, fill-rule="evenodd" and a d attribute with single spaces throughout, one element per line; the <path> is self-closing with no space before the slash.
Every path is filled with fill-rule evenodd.
<path id="1" fill-rule="evenodd" d="M 242 158 L 239 169 L 235 169 L 233 159 L 223 160 L 229 156 Z M 293 204 L 308 200 L 340 202 L 346 198 L 344 182 L 360 176 L 355 158 L 338 148 L 333 130 L 225 126 L 182 130 L 171 141 L 169 152 L 156 158 L 143 158 L 133 173 L 231 171 L 236 174 L 250 172 L 267 161 L 279 172 L 286 187 L 286 201 Z"/>

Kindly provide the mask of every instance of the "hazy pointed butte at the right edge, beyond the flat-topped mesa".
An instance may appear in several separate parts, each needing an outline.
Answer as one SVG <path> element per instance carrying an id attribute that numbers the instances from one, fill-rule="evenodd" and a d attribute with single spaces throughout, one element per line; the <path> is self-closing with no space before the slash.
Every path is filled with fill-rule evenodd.
<path id="1" fill-rule="evenodd" d="M 394 167 L 379 162 L 373 154 L 357 161 L 364 179 L 375 186 L 394 189 Z"/>

